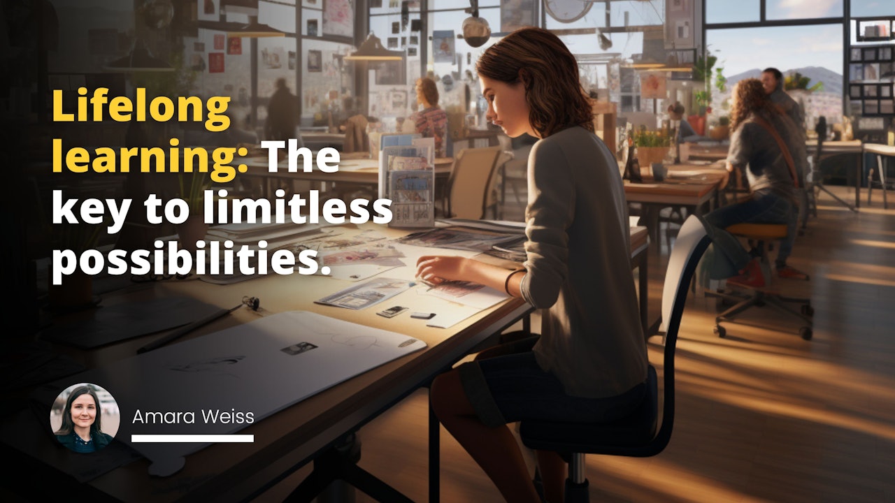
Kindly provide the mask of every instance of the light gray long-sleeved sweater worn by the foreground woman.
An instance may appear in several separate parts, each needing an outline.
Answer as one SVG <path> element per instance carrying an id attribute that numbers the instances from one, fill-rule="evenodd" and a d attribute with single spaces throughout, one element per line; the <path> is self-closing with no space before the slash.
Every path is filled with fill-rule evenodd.
<path id="1" fill-rule="evenodd" d="M 569 395 L 620 395 L 646 379 L 647 357 L 618 163 L 595 134 L 567 128 L 534 144 L 528 194 L 521 289 L 546 308 L 537 361 Z"/>

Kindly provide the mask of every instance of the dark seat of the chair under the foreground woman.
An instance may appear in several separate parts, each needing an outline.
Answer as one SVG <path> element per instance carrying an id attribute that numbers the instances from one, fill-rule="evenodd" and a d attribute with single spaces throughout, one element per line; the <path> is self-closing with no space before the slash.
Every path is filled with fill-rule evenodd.
<path id="1" fill-rule="evenodd" d="M 524 421 L 519 430 L 528 448 L 558 452 L 600 454 L 604 448 L 643 446 L 656 434 L 659 418 L 659 389 L 656 370 L 650 365 L 644 400 L 624 419 L 616 422 Z"/>

